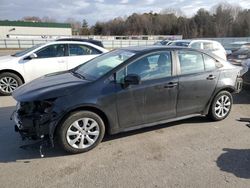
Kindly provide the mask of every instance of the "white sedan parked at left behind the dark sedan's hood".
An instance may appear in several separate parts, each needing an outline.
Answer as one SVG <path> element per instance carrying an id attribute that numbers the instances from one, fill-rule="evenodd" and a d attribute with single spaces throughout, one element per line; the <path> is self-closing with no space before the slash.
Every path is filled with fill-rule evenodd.
<path id="1" fill-rule="evenodd" d="M 72 69 L 108 50 L 87 42 L 55 41 L 0 57 L 0 95 L 48 73 Z"/>

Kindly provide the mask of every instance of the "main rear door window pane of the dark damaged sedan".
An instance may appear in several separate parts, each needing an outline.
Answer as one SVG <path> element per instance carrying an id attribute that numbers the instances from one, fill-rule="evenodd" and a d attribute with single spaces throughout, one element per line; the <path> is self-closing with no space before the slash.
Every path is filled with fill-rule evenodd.
<path id="1" fill-rule="evenodd" d="M 204 72 L 202 54 L 194 51 L 179 51 L 181 74 Z"/>

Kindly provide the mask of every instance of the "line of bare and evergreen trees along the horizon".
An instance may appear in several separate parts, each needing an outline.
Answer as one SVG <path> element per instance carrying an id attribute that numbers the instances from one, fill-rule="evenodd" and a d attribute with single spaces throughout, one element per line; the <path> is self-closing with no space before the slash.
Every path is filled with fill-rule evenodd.
<path id="1" fill-rule="evenodd" d="M 34 19 L 26 17 L 23 20 Z M 37 19 L 37 18 L 36 18 Z M 55 21 L 53 18 L 38 18 L 37 21 Z M 160 13 L 134 13 L 128 17 L 117 17 L 107 22 L 96 22 L 89 26 L 68 18 L 76 35 L 183 35 L 196 37 L 248 37 L 250 36 L 250 9 L 228 3 L 220 3 L 210 11 L 199 9 L 192 17 L 181 10 L 164 9 Z"/>

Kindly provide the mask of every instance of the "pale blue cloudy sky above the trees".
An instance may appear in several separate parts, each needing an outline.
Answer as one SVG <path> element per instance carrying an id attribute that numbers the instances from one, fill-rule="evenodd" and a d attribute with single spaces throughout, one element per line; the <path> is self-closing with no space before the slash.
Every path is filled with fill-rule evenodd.
<path id="1" fill-rule="evenodd" d="M 181 9 L 192 16 L 199 8 L 210 10 L 218 0 L 0 0 L 0 20 L 18 20 L 24 16 L 52 17 L 63 22 L 67 18 L 89 24 L 107 21 L 134 12 L 160 12 L 164 8 Z M 225 2 L 225 1 L 224 1 Z M 250 0 L 226 2 L 250 9 Z"/>

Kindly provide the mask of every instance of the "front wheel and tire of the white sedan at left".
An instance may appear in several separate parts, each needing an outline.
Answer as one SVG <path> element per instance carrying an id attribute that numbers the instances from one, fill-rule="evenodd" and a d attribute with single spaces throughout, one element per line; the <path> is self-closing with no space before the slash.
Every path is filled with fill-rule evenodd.
<path id="1" fill-rule="evenodd" d="M 4 72 L 0 74 L 0 95 L 9 96 L 23 84 L 22 79 L 14 73 Z"/>

